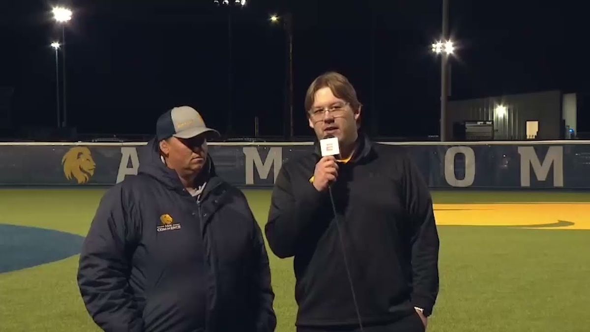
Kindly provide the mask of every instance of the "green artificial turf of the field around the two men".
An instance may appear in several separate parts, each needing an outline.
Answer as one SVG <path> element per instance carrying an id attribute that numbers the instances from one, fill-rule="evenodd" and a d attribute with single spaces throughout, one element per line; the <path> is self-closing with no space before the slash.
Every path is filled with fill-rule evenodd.
<path id="1" fill-rule="evenodd" d="M 0 223 L 84 236 L 103 193 L 0 189 Z M 264 229 L 270 191 L 245 193 Z M 589 193 L 547 191 L 434 191 L 433 197 L 435 203 L 590 201 Z M 439 226 L 439 232 L 441 289 L 428 331 L 589 330 L 590 231 Z M 277 331 L 294 331 L 292 259 L 269 255 Z M 78 294 L 76 269 L 73 256 L 0 274 L 0 331 L 99 331 Z"/>

